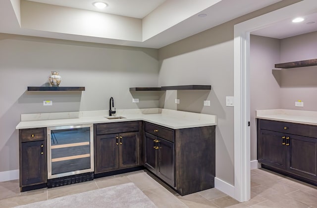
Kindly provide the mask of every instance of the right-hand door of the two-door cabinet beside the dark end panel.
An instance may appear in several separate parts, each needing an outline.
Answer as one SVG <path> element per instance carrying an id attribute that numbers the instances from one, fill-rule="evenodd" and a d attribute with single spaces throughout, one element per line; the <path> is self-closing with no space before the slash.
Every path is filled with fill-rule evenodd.
<path id="1" fill-rule="evenodd" d="M 174 143 L 158 137 L 157 175 L 174 186 Z"/>

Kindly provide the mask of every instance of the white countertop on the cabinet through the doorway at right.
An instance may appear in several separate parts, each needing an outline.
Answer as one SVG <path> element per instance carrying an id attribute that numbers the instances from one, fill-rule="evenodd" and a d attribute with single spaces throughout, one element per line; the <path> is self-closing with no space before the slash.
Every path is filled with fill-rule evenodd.
<path id="1" fill-rule="evenodd" d="M 317 125 L 317 111 L 289 109 L 256 110 L 256 118 Z"/>

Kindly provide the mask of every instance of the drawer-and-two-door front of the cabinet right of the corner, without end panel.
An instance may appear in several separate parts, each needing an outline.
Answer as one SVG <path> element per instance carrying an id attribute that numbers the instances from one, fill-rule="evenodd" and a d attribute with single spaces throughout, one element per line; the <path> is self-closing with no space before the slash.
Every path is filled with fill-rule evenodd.
<path id="1" fill-rule="evenodd" d="M 174 187 L 174 131 L 145 123 L 145 166 Z"/>

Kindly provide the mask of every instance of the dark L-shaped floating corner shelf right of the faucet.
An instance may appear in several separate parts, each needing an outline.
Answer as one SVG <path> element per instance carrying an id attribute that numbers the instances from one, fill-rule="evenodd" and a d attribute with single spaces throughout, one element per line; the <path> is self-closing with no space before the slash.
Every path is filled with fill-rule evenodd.
<path id="1" fill-rule="evenodd" d="M 131 87 L 130 91 L 211 90 L 211 85 L 178 85 L 164 87 Z"/>

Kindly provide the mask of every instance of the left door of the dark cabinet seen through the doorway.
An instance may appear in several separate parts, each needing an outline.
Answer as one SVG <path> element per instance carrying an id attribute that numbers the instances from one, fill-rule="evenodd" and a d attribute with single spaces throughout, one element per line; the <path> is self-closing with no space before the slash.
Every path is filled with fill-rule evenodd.
<path id="1" fill-rule="evenodd" d="M 272 167 L 286 168 L 286 140 L 285 134 L 260 130 L 258 140 L 258 160 L 259 162 Z"/>

